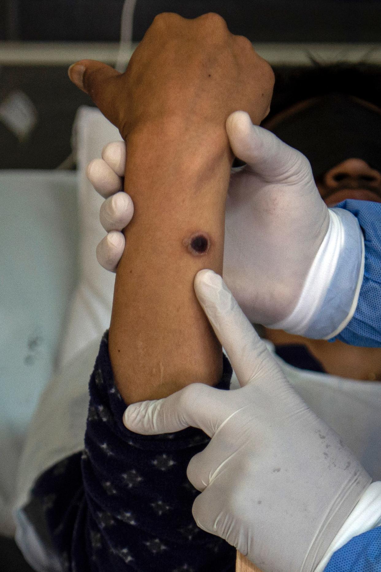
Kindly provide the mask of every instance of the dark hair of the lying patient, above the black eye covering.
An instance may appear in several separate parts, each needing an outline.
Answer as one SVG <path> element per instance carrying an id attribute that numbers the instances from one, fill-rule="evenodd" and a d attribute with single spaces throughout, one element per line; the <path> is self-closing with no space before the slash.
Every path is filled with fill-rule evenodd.
<path id="1" fill-rule="evenodd" d="M 299 101 L 331 92 L 346 93 L 381 107 L 381 65 L 372 63 L 320 64 L 312 66 L 274 66 L 275 86 L 271 111 L 276 113 Z"/>

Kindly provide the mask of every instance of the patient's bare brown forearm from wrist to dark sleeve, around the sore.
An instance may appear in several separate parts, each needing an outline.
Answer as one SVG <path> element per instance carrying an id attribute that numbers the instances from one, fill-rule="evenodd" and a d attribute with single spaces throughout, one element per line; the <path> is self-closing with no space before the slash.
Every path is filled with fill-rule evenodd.
<path id="1" fill-rule="evenodd" d="M 118 265 L 109 352 L 126 403 L 216 384 L 222 352 L 193 289 L 201 268 L 222 273 L 231 166 L 223 129 L 174 122 L 142 126 L 127 140 L 125 190 L 134 217 Z M 206 253 L 188 247 L 195 234 Z"/>

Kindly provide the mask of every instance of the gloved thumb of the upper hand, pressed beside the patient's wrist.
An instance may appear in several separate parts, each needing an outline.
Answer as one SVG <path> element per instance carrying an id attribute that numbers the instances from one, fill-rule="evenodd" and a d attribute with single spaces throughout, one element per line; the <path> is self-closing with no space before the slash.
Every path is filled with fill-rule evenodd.
<path id="1" fill-rule="evenodd" d="M 226 129 L 235 156 L 267 182 L 285 182 L 285 176 L 304 175 L 311 171 L 307 157 L 267 129 L 253 125 L 249 114 L 244 111 L 231 113 Z"/>

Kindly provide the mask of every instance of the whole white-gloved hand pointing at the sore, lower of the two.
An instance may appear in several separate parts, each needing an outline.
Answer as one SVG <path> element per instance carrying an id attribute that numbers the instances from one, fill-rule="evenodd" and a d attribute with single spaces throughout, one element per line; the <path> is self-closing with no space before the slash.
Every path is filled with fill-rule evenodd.
<path id="1" fill-rule="evenodd" d="M 371 479 L 293 391 L 221 277 L 201 270 L 195 291 L 241 388 L 192 384 L 129 406 L 124 424 L 146 435 L 201 428 L 212 439 L 187 471 L 201 491 L 197 525 L 263 572 L 311 572 Z"/>

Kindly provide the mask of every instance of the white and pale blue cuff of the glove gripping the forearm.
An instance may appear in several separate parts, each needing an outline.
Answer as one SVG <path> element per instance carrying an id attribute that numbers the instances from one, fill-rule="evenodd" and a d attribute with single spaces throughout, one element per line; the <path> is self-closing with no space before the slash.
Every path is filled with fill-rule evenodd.
<path id="1" fill-rule="evenodd" d="M 364 275 L 364 237 L 348 210 L 328 209 L 330 225 L 290 316 L 268 328 L 313 339 L 337 336 L 351 320 Z"/>

